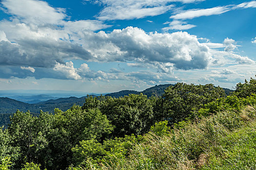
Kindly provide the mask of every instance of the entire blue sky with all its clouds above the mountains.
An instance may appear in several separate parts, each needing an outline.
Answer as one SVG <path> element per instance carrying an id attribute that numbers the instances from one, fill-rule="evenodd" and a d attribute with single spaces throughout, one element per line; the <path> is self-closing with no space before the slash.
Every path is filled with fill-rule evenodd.
<path id="1" fill-rule="evenodd" d="M 256 75 L 256 0 L 0 0 L 0 90 L 233 89 Z"/>

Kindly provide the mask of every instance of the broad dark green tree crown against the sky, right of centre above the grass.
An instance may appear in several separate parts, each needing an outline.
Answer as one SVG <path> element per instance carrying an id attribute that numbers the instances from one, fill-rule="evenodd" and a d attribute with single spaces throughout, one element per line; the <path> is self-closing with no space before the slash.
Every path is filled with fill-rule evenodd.
<path id="1" fill-rule="evenodd" d="M 162 113 L 170 123 L 177 123 L 191 117 L 191 112 L 198 111 L 204 104 L 224 97 L 220 87 L 208 85 L 187 85 L 177 83 L 169 86 L 163 95 Z"/>

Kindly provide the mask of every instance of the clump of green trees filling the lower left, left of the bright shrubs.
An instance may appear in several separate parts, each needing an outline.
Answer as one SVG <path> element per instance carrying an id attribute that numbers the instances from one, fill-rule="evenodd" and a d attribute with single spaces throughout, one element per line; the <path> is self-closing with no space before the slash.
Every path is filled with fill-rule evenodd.
<path id="1" fill-rule="evenodd" d="M 98 109 L 86 112 L 74 105 L 65 112 L 56 109 L 55 115 L 41 112 L 39 117 L 18 110 L 8 130 L 0 133 L 4 142 L 0 143 L 0 149 L 3 155 L 8 154 L 10 148 L 19 149 L 19 154 L 12 156 L 14 169 L 26 162 L 35 162 L 42 168 L 64 170 L 71 164 L 71 149 L 79 141 L 100 141 L 112 130 L 113 126 Z"/>

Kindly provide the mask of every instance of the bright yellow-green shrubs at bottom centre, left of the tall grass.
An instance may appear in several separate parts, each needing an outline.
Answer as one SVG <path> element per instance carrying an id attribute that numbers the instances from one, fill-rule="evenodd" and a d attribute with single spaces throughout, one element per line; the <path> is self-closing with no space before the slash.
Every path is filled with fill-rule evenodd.
<path id="1" fill-rule="evenodd" d="M 108 139 L 103 144 L 96 140 L 81 141 L 79 145 L 72 149 L 74 154 L 74 164 L 76 168 L 83 167 L 89 169 L 107 167 L 110 164 L 118 163 L 120 159 L 125 159 L 136 143 L 140 141 L 134 135 Z M 72 167 L 70 167 L 72 169 Z M 73 168 L 74 169 L 74 168 Z M 72 170 L 73 170 L 72 169 Z"/>

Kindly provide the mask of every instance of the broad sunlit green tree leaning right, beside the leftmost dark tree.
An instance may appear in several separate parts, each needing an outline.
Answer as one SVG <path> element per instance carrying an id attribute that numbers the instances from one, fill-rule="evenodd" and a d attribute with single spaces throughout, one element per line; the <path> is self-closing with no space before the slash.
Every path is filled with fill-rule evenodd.
<path id="1" fill-rule="evenodd" d="M 72 163 L 71 148 L 79 141 L 104 139 L 111 133 L 113 126 L 98 109 L 82 110 L 74 105 L 63 112 L 55 109 L 55 122 L 49 135 L 49 147 L 52 149 L 52 170 L 64 170 Z M 50 169 L 50 168 L 48 168 Z"/>

